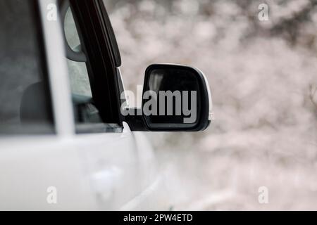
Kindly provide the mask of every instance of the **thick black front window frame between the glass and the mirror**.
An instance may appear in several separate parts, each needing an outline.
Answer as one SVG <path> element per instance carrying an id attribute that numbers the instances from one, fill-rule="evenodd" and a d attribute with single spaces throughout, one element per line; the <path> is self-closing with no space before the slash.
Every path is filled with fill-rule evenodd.
<path id="1" fill-rule="evenodd" d="M 85 129 L 78 129 L 77 133 L 122 132 L 123 117 L 120 115 L 120 88 L 116 66 L 120 55 L 117 54 L 117 60 L 113 56 L 113 48 L 118 46 L 113 45 L 108 36 L 103 14 L 104 4 L 99 0 L 70 0 L 70 7 L 78 23 L 82 51 L 87 56 L 86 65 L 94 104 L 104 124 L 110 124 L 106 127 L 86 124 Z"/>

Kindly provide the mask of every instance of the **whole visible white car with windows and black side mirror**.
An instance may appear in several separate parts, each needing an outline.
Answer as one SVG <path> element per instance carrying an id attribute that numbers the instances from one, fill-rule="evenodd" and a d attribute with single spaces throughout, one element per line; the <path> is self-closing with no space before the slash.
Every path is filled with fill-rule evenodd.
<path id="1" fill-rule="evenodd" d="M 206 129 L 209 85 L 151 65 L 133 109 L 120 65 L 103 1 L 0 0 L 0 210 L 169 209 L 142 131 Z M 155 113 L 146 93 L 162 91 L 173 96 Z"/>

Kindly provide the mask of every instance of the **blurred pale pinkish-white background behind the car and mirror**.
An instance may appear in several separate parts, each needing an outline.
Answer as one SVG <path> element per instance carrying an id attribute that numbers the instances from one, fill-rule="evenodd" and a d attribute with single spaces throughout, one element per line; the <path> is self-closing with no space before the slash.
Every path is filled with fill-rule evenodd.
<path id="1" fill-rule="evenodd" d="M 207 131 L 147 134 L 174 210 L 317 210 L 316 1 L 104 1 L 127 89 L 151 63 L 192 65 L 209 79 Z"/>

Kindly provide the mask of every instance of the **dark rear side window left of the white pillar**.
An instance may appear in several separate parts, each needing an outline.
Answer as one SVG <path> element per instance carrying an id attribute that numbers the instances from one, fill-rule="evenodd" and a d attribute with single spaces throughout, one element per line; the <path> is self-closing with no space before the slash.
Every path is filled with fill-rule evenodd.
<path id="1" fill-rule="evenodd" d="M 51 134 L 54 121 L 32 0 L 0 0 L 0 135 Z"/>

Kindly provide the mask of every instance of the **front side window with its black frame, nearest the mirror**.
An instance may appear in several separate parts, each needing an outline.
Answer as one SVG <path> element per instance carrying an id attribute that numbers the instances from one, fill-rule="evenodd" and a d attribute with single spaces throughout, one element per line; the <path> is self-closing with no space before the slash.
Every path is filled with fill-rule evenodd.
<path id="1" fill-rule="evenodd" d="M 59 0 L 77 134 L 121 132 L 118 69 L 99 1 Z"/>

